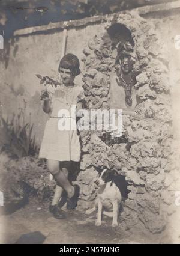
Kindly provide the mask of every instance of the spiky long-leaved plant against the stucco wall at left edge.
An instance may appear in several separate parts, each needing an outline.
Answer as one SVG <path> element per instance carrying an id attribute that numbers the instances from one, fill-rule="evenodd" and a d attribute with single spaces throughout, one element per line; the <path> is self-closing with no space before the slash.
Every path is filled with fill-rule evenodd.
<path id="1" fill-rule="evenodd" d="M 21 119 L 23 121 L 21 121 Z M 34 156 L 37 152 L 35 135 L 32 136 L 33 124 L 25 123 L 23 112 L 14 114 L 11 121 L 1 117 L 0 142 L 3 149 L 16 157 Z"/>

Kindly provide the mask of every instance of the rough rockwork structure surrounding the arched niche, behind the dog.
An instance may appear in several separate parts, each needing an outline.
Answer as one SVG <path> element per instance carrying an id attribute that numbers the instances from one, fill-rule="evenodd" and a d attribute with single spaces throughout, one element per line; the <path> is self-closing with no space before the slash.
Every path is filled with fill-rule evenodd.
<path id="1" fill-rule="evenodd" d="M 143 227 L 160 233 L 166 227 L 167 213 L 171 214 L 170 203 L 164 199 L 172 144 L 167 56 L 149 20 L 121 14 L 107 18 L 102 26 L 102 33 L 94 35 L 83 50 L 86 107 L 111 107 L 111 76 L 119 40 L 113 37 L 116 33 L 111 34 L 115 28 L 119 28 L 116 32 L 120 31 L 121 40 L 124 34 L 125 40 L 130 37 L 134 43 L 137 76 L 133 90 L 138 100 L 130 111 L 122 109 L 123 135 L 116 141 L 107 132 L 82 132 L 81 171 L 77 177 L 81 187 L 79 208 L 88 208 L 95 198 L 98 169 L 113 168 L 125 175 L 130 190 L 119 227 Z"/>

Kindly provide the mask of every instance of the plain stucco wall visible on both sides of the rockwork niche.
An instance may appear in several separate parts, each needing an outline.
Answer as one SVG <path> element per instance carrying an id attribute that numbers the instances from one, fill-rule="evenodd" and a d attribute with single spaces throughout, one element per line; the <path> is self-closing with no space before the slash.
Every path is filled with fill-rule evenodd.
<path id="1" fill-rule="evenodd" d="M 171 4 L 172 5 L 172 4 Z M 145 19 L 151 20 L 157 27 L 157 31 L 164 36 L 164 44 L 168 45 L 167 48 L 172 50 L 173 61 L 171 69 L 177 70 L 179 64 L 179 51 L 174 47 L 173 37 L 178 34 L 178 16 L 171 16 L 171 5 L 158 5 L 160 7 L 143 7 L 139 8 L 140 13 Z M 175 6 L 174 6 L 175 5 Z M 172 7 L 178 10 L 179 1 L 175 2 Z M 167 15 L 167 11 L 169 12 Z M 161 13 L 161 10 L 165 10 L 166 13 Z M 155 10 L 158 10 L 157 13 Z M 154 19 L 154 13 L 156 17 L 160 19 Z M 162 19 L 163 16 L 166 18 Z M 113 16 L 112 16 L 113 17 Z M 68 28 L 67 39 L 67 53 L 72 52 L 76 54 L 79 59 L 82 58 L 82 50 L 88 43 L 89 38 L 92 38 L 95 34 L 99 34 L 102 30 L 101 23 L 105 21 L 101 19 L 94 19 L 94 22 L 90 22 L 90 19 L 85 19 L 84 22 L 74 22 L 76 26 L 70 25 Z M 170 23 L 169 23 L 170 22 Z M 71 24 L 71 23 L 70 23 Z M 172 25 L 172 26 L 171 26 Z M 65 25 L 64 25 L 65 26 Z M 43 26 L 40 28 L 28 28 L 22 29 L 22 31 L 15 32 L 15 37 L 12 38 L 6 46 L 6 52 L 3 53 L 3 61 L 0 62 L 1 76 L 1 112 L 4 115 L 10 115 L 13 112 L 18 111 L 19 107 L 24 108 L 26 104 L 26 117 L 31 115 L 31 121 L 35 125 L 35 131 L 37 133 L 37 143 L 40 144 L 44 123 L 46 122 L 46 115 L 41 110 L 39 103 L 39 92 L 43 89 L 43 85 L 39 84 L 39 81 L 35 74 L 48 75 L 52 78 L 58 78 L 58 65 L 61 58 L 62 47 L 62 27 L 60 24 L 52 26 Z M 53 29 L 50 29 L 53 28 Z M 5 67 L 6 68 L 5 68 Z M 80 61 L 81 69 L 83 69 L 83 62 Z M 171 72 L 174 76 L 175 72 Z M 177 72 L 176 72 L 177 74 Z M 177 75 L 175 75 L 177 76 Z M 174 79 L 174 78 L 173 78 Z M 175 79 L 174 79 L 175 80 Z M 76 82 L 82 84 L 82 75 L 79 75 Z M 178 94 L 176 90 L 178 85 L 174 82 L 173 85 L 173 117 L 175 119 L 175 131 L 178 133 L 179 119 L 176 116 L 178 109 L 177 103 L 179 102 Z M 24 100 L 26 103 L 24 102 Z M 7 104 L 7 102 L 11 102 Z M 180 136 L 180 135 L 178 135 Z"/>

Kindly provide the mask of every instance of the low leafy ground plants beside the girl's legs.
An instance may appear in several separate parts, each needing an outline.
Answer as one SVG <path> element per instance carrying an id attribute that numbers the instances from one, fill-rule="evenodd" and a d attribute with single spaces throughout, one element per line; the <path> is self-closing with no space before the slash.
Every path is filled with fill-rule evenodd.
<path id="1" fill-rule="evenodd" d="M 7 184 L 19 195 L 36 196 L 41 203 L 52 198 L 55 180 L 49 180 L 47 161 L 35 156 L 12 159 L 4 164 L 8 172 Z M 8 186 L 5 186 L 6 189 Z M 10 193 L 7 193 L 9 198 Z M 11 198 L 10 200 L 11 201 Z"/>

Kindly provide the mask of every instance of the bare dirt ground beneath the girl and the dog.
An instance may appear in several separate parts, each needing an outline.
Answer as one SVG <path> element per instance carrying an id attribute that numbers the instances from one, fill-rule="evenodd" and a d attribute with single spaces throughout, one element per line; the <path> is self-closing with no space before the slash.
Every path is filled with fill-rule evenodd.
<path id="1" fill-rule="evenodd" d="M 0 216 L 1 243 L 23 243 L 20 236 L 39 231 L 44 236 L 43 243 L 157 243 L 157 239 L 149 240 L 144 234 L 135 234 L 111 227 L 110 218 L 103 219 L 101 227 L 95 227 L 95 215 L 86 216 L 76 210 L 66 212 L 67 219 L 53 218 L 48 209 L 41 208 L 37 202 L 28 205 L 11 215 Z M 32 240 L 31 240 L 32 239 Z M 37 243 L 33 235 L 29 243 Z M 41 242 L 42 243 L 42 242 Z"/>

